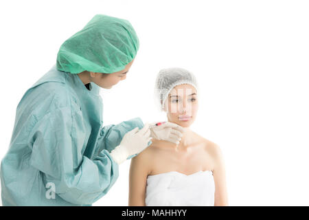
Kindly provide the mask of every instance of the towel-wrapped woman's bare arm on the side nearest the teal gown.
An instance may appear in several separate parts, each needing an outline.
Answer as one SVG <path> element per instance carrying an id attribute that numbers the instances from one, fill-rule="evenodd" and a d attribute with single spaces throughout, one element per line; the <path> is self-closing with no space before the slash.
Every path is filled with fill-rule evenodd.
<path id="1" fill-rule="evenodd" d="M 148 146 L 150 148 L 150 146 Z M 148 148 L 131 159 L 129 174 L 129 206 L 146 206 L 146 184 L 150 167 Z"/>

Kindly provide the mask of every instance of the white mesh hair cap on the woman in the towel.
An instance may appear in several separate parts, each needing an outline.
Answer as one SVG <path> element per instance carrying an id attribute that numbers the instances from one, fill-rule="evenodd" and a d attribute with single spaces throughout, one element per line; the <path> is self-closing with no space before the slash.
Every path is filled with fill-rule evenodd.
<path id="1" fill-rule="evenodd" d="M 182 84 L 192 85 L 198 90 L 195 76 L 186 69 L 172 67 L 160 70 L 155 83 L 155 97 L 159 101 L 161 110 L 163 110 L 164 102 L 170 91 Z"/>

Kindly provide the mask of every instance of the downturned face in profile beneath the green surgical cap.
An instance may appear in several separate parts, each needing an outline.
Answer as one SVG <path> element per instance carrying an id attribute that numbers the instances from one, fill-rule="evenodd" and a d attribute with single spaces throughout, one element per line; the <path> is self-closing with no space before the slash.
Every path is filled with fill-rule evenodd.
<path id="1" fill-rule="evenodd" d="M 133 61 L 128 63 L 128 65 L 126 65 L 126 67 L 122 69 L 121 71 L 115 72 L 112 74 L 102 74 L 102 73 L 90 72 L 91 80 L 93 83 L 95 83 L 99 87 L 102 87 L 104 89 L 111 89 L 113 85 L 116 85 L 117 83 L 119 83 L 119 81 L 126 79 L 126 74 L 128 70 L 130 69 Z"/>

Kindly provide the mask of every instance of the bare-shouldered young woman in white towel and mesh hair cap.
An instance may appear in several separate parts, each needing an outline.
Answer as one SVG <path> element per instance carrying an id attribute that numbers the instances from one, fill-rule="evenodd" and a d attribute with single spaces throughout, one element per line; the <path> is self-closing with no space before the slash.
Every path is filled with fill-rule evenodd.
<path id="1" fill-rule="evenodd" d="M 194 75 L 163 69 L 156 90 L 168 122 L 182 126 L 183 136 L 179 144 L 152 138 L 131 160 L 129 206 L 227 206 L 220 147 L 190 129 L 199 101 Z"/>

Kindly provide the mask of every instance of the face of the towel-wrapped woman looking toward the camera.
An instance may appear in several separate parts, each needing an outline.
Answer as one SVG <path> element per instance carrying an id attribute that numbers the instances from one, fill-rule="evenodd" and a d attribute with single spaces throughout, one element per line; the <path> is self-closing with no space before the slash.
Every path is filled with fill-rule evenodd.
<path id="1" fill-rule="evenodd" d="M 183 127 L 189 127 L 194 122 L 197 110 L 197 91 L 192 85 L 174 87 L 165 100 L 164 111 L 167 111 L 168 121 Z"/>

